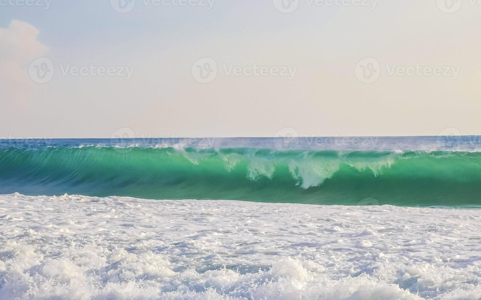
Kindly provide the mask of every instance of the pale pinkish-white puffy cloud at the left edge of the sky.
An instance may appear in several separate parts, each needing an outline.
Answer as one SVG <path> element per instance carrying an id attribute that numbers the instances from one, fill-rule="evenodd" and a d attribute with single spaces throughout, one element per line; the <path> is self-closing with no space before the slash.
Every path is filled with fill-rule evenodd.
<path id="1" fill-rule="evenodd" d="M 13 20 L 7 28 L 0 28 L 0 89 L 2 105 L 12 107 L 25 102 L 33 82 L 27 67 L 31 61 L 47 53 L 47 46 L 37 40 L 39 31 L 31 24 Z"/>

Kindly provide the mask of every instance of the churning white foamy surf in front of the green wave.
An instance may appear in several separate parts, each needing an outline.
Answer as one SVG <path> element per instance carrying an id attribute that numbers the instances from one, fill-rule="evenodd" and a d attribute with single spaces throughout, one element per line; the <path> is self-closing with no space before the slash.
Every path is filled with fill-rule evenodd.
<path id="1" fill-rule="evenodd" d="M 481 210 L 0 196 L 0 299 L 479 299 Z"/>

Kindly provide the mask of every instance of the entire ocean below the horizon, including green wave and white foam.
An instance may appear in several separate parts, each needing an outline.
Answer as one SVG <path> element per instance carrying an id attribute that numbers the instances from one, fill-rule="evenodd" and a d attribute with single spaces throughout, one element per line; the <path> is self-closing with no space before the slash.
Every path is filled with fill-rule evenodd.
<path id="1" fill-rule="evenodd" d="M 0 140 L 0 299 L 479 300 L 480 145 Z"/>

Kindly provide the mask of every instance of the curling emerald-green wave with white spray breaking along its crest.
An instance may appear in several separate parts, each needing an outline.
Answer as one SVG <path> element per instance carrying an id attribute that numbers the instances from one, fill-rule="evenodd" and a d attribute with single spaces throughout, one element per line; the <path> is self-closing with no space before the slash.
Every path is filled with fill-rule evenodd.
<path id="1" fill-rule="evenodd" d="M 307 204 L 481 204 L 479 152 L 0 149 L 0 193 Z"/>

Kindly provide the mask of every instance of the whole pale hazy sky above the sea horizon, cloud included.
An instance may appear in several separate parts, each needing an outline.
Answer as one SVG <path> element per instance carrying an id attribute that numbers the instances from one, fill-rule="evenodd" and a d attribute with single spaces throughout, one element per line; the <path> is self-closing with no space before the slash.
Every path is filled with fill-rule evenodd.
<path id="1" fill-rule="evenodd" d="M 480 15 L 472 0 L 0 0 L 0 138 L 481 135 Z"/>

